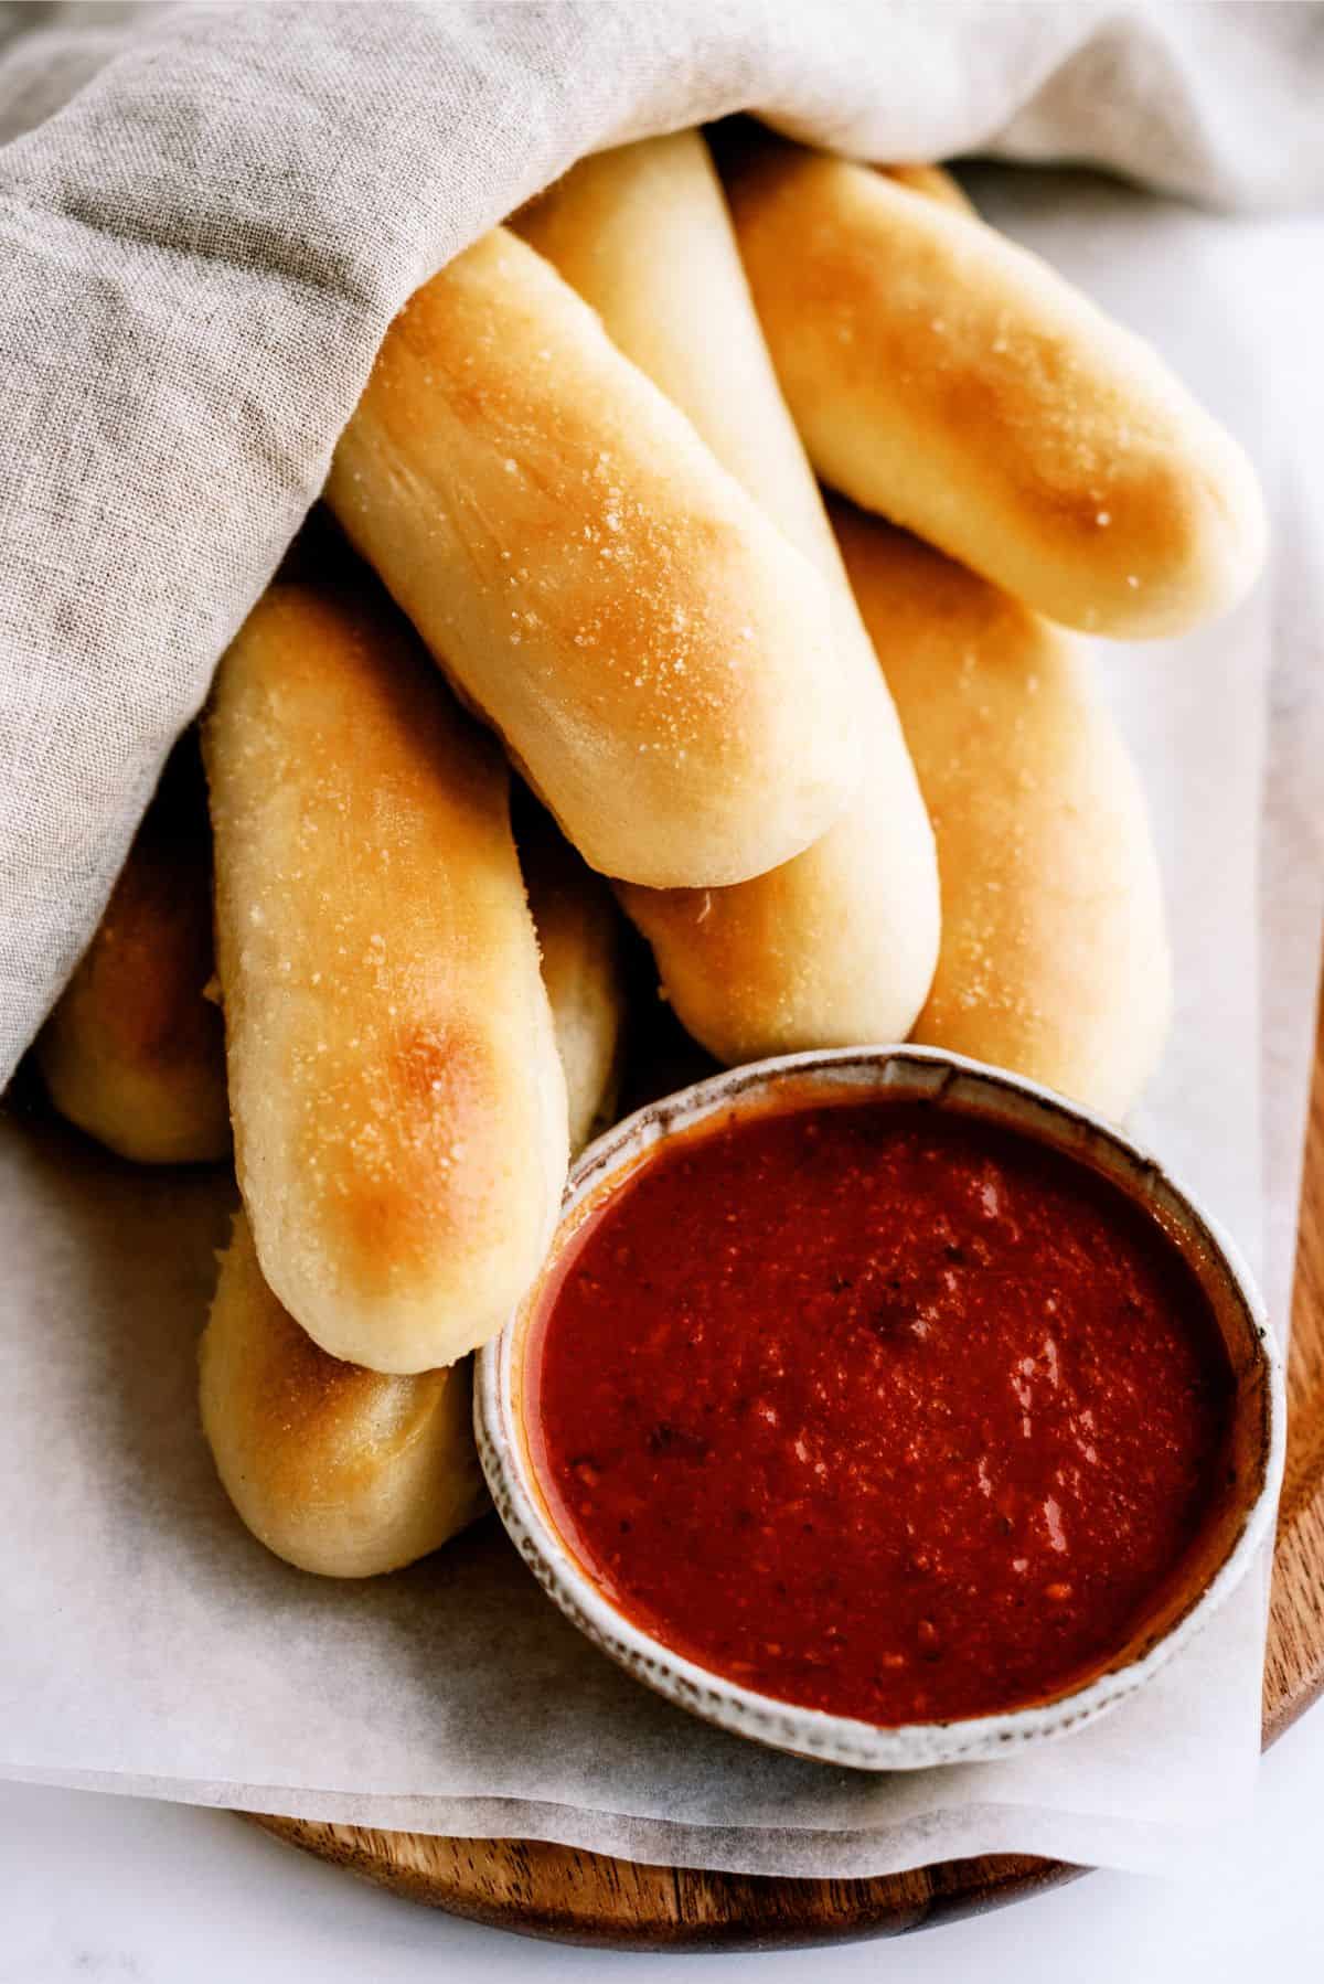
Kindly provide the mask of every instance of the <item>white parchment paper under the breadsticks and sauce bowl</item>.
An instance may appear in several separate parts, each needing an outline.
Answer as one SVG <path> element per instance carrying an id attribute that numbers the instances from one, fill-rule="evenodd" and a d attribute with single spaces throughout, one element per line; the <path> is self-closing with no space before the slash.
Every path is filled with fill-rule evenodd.
<path id="1" fill-rule="evenodd" d="M 1233 1228 L 1282 1323 L 1324 877 L 1324 284 L 1306 290 L 1324 222 L 1233 222 L 1062 175 L 975 190 L 1169 353 L 1278 518 L 1272 571 L 1231 619 L 1100 649 L 1100 667 L 1145 774 L 1177 958 L 1137 1127 Z M 0 1123 L 6 1774 L 800 1875 L 1000 1849 L 1173 1867 L 1245 1817 L 1262 1579 L 1094 1728 L 1016 1762 L 871 1778 L 665 1706 L 546 1603 L 494 1518 L 389 1579 L 288 1569 L 232 1516 L 197 1423 L 230 1190 Z"/>

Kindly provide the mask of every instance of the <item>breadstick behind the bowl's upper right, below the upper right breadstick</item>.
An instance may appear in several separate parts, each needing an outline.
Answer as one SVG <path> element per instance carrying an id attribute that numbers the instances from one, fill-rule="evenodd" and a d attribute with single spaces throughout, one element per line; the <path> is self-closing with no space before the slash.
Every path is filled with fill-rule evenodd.
<path id="1" fill-rule="evenodd" d="M 943 875 L 915 1040 L 1124 1117 L 1169 1012 L 1145 807 L 1076 641 L 917 538 L 834 504 Z"/>

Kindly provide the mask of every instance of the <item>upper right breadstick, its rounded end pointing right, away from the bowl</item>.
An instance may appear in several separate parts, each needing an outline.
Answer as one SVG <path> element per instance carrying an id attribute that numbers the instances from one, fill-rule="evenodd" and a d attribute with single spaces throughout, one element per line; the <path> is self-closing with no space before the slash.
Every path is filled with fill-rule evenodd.
<path id="1" fill-rule="evenodd" d="M 768 133 L 740 254 L 818 472 L 1070 627 L 1171 635 L 1264 554 L 1237 442 L 1155 351 L 977 216 Z"/>

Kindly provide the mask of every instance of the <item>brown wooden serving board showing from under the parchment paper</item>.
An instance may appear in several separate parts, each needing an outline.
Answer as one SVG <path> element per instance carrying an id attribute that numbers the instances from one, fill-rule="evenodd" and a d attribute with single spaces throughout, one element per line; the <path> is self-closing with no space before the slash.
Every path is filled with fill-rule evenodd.
<path id="1" fill-rule="evenodd" d="M 1324 1688 L 1324 1010 L 1306 1141 L 1288 1460 L 1264 1663 L 1264 1742 Z M 643 1867 L 526 1839 L 441 1839 L 260 1817 L 322 1859 L 451 1915 L 605 1948 L 774 1948 L 891 1936 L 1086 1873 L 1028 1855 L 941 1861 L 877 1881 L 790 1881 Z"/>

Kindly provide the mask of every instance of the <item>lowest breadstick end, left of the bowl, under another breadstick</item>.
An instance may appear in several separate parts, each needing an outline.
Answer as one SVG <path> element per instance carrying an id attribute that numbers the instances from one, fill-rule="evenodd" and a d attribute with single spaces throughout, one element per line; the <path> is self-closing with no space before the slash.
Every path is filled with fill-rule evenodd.
<path id="1" fill-rule="evenodd" d="M 262 1280 L 242 1212 L 199 1357 L 216 1472 L 288 1563 L 373 1577 L 439 1550 L 488 1506 L 470 1361 L 387 1377 L 328 1357 Z"/>

